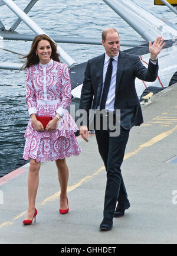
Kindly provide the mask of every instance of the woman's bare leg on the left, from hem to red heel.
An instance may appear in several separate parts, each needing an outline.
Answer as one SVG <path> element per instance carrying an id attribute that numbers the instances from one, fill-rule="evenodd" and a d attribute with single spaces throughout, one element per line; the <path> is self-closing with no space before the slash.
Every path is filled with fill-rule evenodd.
<path id="1" fill-rule="evenodd" d="M 37 195 L 38 184 L 39 184 L 39 170 L 41 162 L 37 162 L 30 158 L 30 171 L 28 174 L 28 213 L 26 219 L 32 219 L 35 211 L 35 198 Z"/>

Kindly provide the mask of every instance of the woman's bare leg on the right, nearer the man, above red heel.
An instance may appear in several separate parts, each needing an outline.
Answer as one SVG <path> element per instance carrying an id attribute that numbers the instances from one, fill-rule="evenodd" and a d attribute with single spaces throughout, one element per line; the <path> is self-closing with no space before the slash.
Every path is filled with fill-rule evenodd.
<path id="1" fill-rule="evenodd" d="M 69 171 L 67 164 L 64 159 L 58 159 L 55 161 L 57 169 L 58 169 L 58 180 L 60 183 L 60 209 L 65 210 L 68 208 L 67 205 L 67 184 Z"/>

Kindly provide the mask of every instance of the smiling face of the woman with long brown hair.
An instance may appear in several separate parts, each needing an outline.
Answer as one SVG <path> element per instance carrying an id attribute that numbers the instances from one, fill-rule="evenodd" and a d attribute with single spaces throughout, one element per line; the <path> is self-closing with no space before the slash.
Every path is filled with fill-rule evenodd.
<path id="1" fill-rule="evenodd" d="M 41 64 L 47 64 L 51 60 L 52 48 L 49 41 L 41 40 L 38 42 L 36 53 L 40 59 Z"/>

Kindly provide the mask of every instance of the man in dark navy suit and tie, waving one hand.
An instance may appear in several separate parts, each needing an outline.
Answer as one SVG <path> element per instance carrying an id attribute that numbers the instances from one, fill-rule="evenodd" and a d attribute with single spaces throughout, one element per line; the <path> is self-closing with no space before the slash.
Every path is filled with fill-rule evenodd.
<path id="1" fill-rule="evenodd" d="M 94 109 L 109 115 L 112 112 L 113 124 L 116 123 L 116 111 L 120 109 L 120 134 L 110 136 L 110 128 L 96 127 L 96 140 L 99 153 L 107 171 L 106 192 L 104 197 L 103 221 L 100 230 L 110 230 L 113 217 L 124 215 L 130 207 L 120 166 L 129 138 L 129 131 L 134 125 L 143 122 L 142 109 L 135 89 L 135 78 L 153 82 L 158 76 L 160 50 L 165 45 L 162 37 L 149 41 L 150 60 L 148 69 L 141 63 L 139 56 L 120 51 L 119 33 L 114 28 L 107 28 L 102 33 L 102 45 L 106 53 L 87 62 L 81 90 L 80 109 Z M 103 112 L 103 113 L 104 113 Z M 100 123 L 104 120 L 101 115 Z M 94 116 L 94 122 L 97 122 Z M 80 134 L 87 142 L 88 125 L 81 125 Z M 112 133 L 113 134 L 113 133 Z M 117 202 L 117 208 L 116 208 Z M 116 209 L 116 210 L 115 210 Z"/>

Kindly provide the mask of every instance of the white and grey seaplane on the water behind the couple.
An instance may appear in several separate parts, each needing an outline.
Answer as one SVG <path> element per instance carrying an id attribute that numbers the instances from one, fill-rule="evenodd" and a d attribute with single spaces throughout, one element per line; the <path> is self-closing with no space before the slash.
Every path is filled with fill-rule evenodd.
<path id="1" fill-rule="evenodd" d="M 17 20 L 11 25 L 9 30 L 6 30 L 0 18 L 0 47 L 3 50 L 3 40 L 24 40 L 32 41 L 37 34 L 47 34 L 42 28 L 38 26 L 28 16 L 31 8 L 38 0 L 31 0 L 27 7 L 22 10 L 12 0 L 0 0 L 1 5 L 6 5 L 12 12 L 17 15 Z M 137 1 L 134 0 L 103 0 L 114 12 L 117 13 L 124 21 L 127 22 L 141 37 L 142 40 L 121 40 L 121 46 L 130 47 L 127 53 L 136 54 L 140 57 L 143 65 L 148 66 L 149 61 L 149 43 L 154 41 L 156 37 L 162 36 L 165 38 L 166 45 L 160 52 L 159 59 L 159 73 L 155 82 L 145 82 L 136 78 L 136 92 L 141 103 L 149 102 L 150 96 L 159 92 L 173 83 L 177 82 L 177 28 L 175 24 L 167 20 L 163 20 L 158 14 L 149 11 Z M 139 1 L 140 2 L 140 1 Z M 177 0 L 154 0 L 155 5 L 166 5 L 171 11 L 177 14 Z M 18 25 L 23 21 L 32 31 L 32 34 L 21 34 L 17 32 Z M 53 37 L 51 38 L 57 43 L 57 50 L 60 53 L 60 58 L 67 63 L 70 70 L 72 102 L 76 106 L 76 111 L 80 102 L 80 93 L 84 78 L 85 63 L 77 64 L 58 43 L 77 43 L 77 44 L 101 44 L 101 40 L 95 38 L 79 38 L 79 37 Z M 4 49 L 5 50 L 5 49 Z M 14 69 L 21 68 L 19 63 L 4 63 L 0 61 L 0 69 Z M 151 90 L 150 94 L 148 89 Z M 146 93 L 148 92 L 148 93 Z"/>

